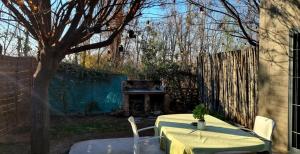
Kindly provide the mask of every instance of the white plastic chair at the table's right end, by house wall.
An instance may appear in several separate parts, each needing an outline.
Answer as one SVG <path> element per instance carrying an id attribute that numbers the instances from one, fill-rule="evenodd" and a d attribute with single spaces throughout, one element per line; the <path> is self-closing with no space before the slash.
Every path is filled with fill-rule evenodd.
<path id="1" fill-rule="evenodd" d="M 275 122 L 272 119 L 256 116 L 253 130 L 247 128 L 241 128 L 242 130 L 251 132 L 253 135 L 257 136 L 265 142 L 265 147 L 258 152 L 269 152 L 272 153 L 272 134 L 275 128 Z M 242 153 L 252 153 L 249 151 L 228 151 L 228 152 L 219 152 L 217 154 L 242 154 Z"/>

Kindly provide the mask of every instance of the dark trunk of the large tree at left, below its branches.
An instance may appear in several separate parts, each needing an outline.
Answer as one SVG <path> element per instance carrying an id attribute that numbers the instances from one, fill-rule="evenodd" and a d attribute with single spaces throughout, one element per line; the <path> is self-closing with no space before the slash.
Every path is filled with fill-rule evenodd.
<path id="1" fill-rule="evenodd" d="M 52 49 L 51 49 L 52 50 Z M 49 53 L 51 53 L 49 55 Z M 31 153 L 49 153 L 48 87 L 60 58 L 53 51 L 42 50 L 34 74 L 31 108 Z M 48 54 L 48 55 L 47 55 Z"/>

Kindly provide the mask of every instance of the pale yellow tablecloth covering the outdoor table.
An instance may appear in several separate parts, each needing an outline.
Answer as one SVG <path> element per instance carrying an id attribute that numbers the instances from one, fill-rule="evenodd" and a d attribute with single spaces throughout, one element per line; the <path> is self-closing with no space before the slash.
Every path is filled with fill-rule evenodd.
<path id="1" fill-rule="evenodd" d="M 197 130 L 192 114 L 162 115 L 156 120 L 155 134 L 164 136 L 161 147 L 170 154 L 210 154 L 221 151 L 256 152 L 264 142 L 213 116 L 206 115 L 206 130 Z M 165 148 L 166 147 L 166 148 Z"/>

